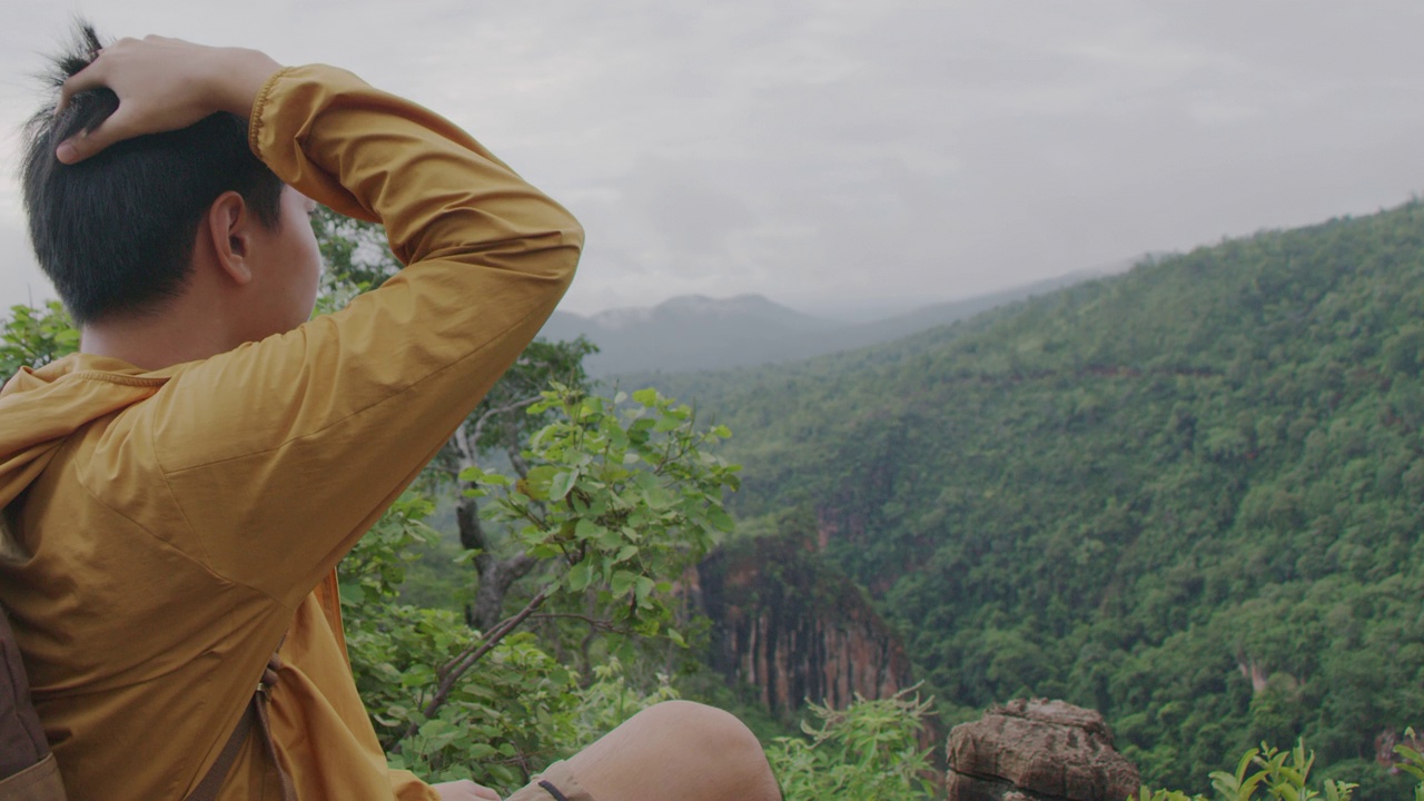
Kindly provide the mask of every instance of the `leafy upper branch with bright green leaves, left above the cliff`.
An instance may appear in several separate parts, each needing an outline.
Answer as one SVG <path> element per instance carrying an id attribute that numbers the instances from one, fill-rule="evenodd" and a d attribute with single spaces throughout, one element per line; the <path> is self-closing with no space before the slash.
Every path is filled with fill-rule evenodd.
<path id="1" fill-rule="evenodd" d="M 527 572 L 541 570 L 543 589 L 430 671 L 433 681 L 422 686 L 419 711 L 412 710 L 399 734 L 384 743 L 392 753 L 426 731 L 471 668 L 545 603 L 592 599 L 598 614 L 540 617 L 577 617 L 594 630 L 665 636 L 681 644 L 671 624 L 675 599 L 666 577 L 681 574 L 706 553 L 715 532 L 732 526 L 722 495 L 738 487 L 738 467 L 705 450 L 729 432 L 721 426 L 699 430 L 688 406 L 652 389 L 608 399 L 564 385 L 534 402 L 506 406 L 553 416 L 520 452 L 528 469 L 511 477 L 468 465 L 460 482 L 468 487 L 466 497 L 486 502 L 481 519 L 510 529 L 521 547 L 520 563 Z M 503 413 L 506 406 L 490 413 Z M 484 419 L 491 418 L 481 416 L 471 433 Z M 459 448 L 473 449 L 473 443 L 467 439 Z"/>

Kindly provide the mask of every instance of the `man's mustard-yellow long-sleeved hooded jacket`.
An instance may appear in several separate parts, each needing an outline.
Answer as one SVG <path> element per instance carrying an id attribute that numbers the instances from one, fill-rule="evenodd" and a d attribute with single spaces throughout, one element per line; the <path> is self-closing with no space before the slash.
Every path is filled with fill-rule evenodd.
<path id="1" fill-rule="evenodd" d="M 332 67 L 273 76 L 251 134 L 409 267 L 205 361 L 16 375 L 0 603 L 75 801 L 184 798 L 279 641 L 272 734 L 299 797 L 433 800 L 387 770 L 312 590 L 533 339 L 582 232 L 450 123 Z M 221 798 L 279 798 L 255 735 Z"/>

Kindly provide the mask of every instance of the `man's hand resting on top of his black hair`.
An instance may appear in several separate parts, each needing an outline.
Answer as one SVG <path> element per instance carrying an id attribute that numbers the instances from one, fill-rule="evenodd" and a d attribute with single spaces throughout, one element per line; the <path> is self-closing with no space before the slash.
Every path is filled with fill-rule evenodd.
<path id="1" fill-rule="evenodd" d="M 118 108 L 98 127 L 60 143 L 54 155 L 74 164 L 114 143 L 187 128 L 218 111 L 246 118 L 262 84 L 281 67 L 265 53 L 241 47 L 159 36 L 121 38 L 64 81 L 56 113 L 75 94 L 101 87 L 118 95 Z"/>

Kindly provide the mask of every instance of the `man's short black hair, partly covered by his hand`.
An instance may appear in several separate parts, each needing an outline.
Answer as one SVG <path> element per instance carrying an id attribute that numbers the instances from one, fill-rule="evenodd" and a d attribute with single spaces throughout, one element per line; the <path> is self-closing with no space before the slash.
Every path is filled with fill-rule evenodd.
<path id="1" fill-rule="evenodd" d="M 56 90 L 103 48 L 93 26 L 75 29 L 46 74 Z M 77 324 L 144 315 L 178 295 L 198 225 L 225 191 L 241 194 L 266 228 L 281 224 L 282 181 L 248 147 L 246 120 L 214 114 L 66 165 L 54 148 L 97 128 L 118 108 L 118 95 L 78 93 L 58 115 L 56 105 L 26 127 L 21 181 L 34 255 Z"/>

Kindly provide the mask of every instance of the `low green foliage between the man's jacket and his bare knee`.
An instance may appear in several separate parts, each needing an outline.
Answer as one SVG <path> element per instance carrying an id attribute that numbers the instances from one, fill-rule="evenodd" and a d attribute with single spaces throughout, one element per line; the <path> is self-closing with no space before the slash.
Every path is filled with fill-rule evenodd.
<path id="1" fill-rule="evenodd" d="M 406 567 L 434 536 L 423 523 L 430 510 L 429 499 L 407 492 L 342 563 L 352 671 L 377 733 L 387 745 L 400 745 L 390 754 L 393 767 L 429 781 L 474 778 L 513 790 L 638 710 L 676 697 L 665 677 L 635 681 L 617 658 L 585 680 L 533 633 L 515 631 L 494 643 L 480 668 L 426 715 L 439 666 L 486 641 L 456 611 L 399 603 Z"/>

